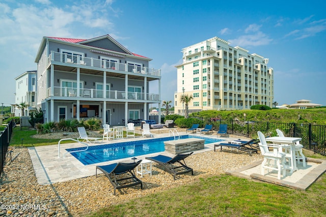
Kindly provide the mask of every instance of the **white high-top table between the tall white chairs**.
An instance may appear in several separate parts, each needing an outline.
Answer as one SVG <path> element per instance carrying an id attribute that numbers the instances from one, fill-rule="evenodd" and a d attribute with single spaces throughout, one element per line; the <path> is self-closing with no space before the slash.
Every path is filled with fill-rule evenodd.
<path id="1" fill-rule="evenodd" d="M 295 161 L 295 143 L 301 141 L 302 138 L 298 137 L 267 137 L 266 141 L 273 142 L 273 144 L 287 144 L 290 145 L 290 155 L 291 155 L 291 164 L 289 164 L 288 168 L 290 173 L 292 174 L 294 171 L 297 170 L 296 161 Z"/>

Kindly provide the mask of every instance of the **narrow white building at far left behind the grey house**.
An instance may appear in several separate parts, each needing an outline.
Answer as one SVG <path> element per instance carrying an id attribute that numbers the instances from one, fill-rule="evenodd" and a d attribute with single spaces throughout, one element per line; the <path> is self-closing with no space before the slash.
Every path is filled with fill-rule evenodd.
<path id="1" fill-rule="evenodd" d="M 25 103 L 28 106 L 24 109 L 24 115 L 29 116 L 31 112 L 36 111 L 36 70 L 22 73 L 15 78 L 15 82 L 15 104 L 12 105 L 12 112 L 16 117 L 20 117 L 21 110 L 16 105 Z"/>

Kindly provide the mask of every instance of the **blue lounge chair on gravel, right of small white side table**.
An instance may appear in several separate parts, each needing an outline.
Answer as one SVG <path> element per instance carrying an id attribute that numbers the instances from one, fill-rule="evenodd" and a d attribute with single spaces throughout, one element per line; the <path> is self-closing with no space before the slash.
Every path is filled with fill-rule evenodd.
<path id="1" fill-rule="evenodd" d="M 194 175 L 194 171 L 192 168 L 187 167 L 184 162 L 184 159 L 190 156 L 193 152 L 187 154 L 177 154 L 175 157 L 170 158 L 164 155 L 158 155 L 156 157 L 146 157 L 150 161 L 154 161 L 164 167 L 164 169 L 173 175 L 175 180 L 176 175 L 184 174 L 191 172 Z M 182 162 L 181 162 L 182 161 Z M 178 165 L 176 165 L 178 163 Z M 180 165 L 180 166 L 179 166 Z"/>

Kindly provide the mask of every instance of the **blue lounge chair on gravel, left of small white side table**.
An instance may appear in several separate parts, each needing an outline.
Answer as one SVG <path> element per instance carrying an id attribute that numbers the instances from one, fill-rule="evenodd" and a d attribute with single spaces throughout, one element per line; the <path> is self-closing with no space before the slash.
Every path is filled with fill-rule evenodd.
<path id="1" fill-rule="evenodd" d="M 116 189 L 128 188 L 134 185 L 141 185 L 143 189 L 143 182 L 135 176 L 134 168 L 136 168 L 142 160 L 134 163 L 115 163 L 105 166 L 96 166 L 97 170 L 100 170 L 110 180 L 114 187 L 114 195 L 116 195 Z M 127 175 L 122 175 L 127 173 Z"/>

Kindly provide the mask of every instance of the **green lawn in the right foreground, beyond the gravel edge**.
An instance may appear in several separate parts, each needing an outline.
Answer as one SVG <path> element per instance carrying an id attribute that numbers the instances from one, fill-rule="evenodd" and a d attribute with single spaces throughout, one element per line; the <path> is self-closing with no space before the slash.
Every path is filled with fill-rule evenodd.
<path id="1" fill-rule="evenodd" d="M 306 157 L 326 160 L 305 150 Z M 326 174 L 307 191 L 230 175 L 202 178 L 89 216 L 325 216 Z"/>

